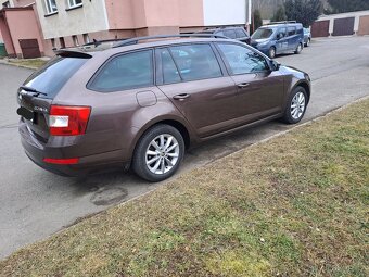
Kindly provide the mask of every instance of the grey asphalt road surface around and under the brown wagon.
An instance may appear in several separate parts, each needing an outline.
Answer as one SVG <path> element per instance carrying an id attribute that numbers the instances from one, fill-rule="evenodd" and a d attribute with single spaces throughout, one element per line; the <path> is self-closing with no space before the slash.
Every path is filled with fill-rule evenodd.
<path id="1" fill-rule="evenodd" d="M 369 96 L 369 37 L 319 39 L 300 55 L 288 54 L 277 60 L 310 74 L 313 97 L 303 122 Z M 34 165 L 20 143 L 15 113 L 16 88 L 30 73 L 29 70 L 0 64 L 0 259 L 80 217 L 161 185 L 148 184 L 123 172 L 84 179 L 64 178 Z M 181 172 L 288 128 L 290 126 L 271 122 L 207 142 L 187 153 Z"/>

